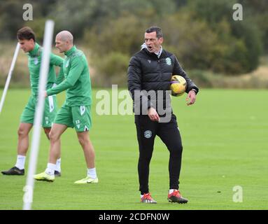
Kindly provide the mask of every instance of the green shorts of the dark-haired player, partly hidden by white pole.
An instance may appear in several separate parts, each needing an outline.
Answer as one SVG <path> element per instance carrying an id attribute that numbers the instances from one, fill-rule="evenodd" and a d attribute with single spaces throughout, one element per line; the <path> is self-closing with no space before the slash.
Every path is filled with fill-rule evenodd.
<path id="1" fill-rule="evenodd" d="M 31 96 L 27 105 L 25 106 L 22 116 L 20 116 L 20 123 L 34 124 L 34 113 L 36 111 L 37 98 Z M 45 98 L 45 111 L 43 114 L 42 127 L 51 127 L 57 114 L 57 100 L 56 96 L 49 96 Z"/>

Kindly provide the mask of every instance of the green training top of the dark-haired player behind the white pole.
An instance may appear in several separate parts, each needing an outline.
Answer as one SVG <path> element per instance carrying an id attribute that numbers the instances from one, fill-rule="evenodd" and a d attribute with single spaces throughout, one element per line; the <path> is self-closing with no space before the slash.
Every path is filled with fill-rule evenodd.
<path id="1" fill-rule="evenodd" d="M 32 96 L 36 97 L 38 95 L 38 83 L 39 83 L 39 73 L 41 67 L 41 58 L 42 58 L 42 48 L 38 43 L 35 43 L 34 49 L 29 51 L 28 54 L 28 67 L 29 67 L 29 76 L 30 76 L 30 83 L 31 83 L 31 94 Z M 63 77 L 63 62 L 64 59 L 57 55 L 50 53 L 50 65 L 49 65 L 49 72 L 48 72 L 48 83 L 46 85 L 46 89 L 52 87 L 54 83 L 58 84 L 62 81 Z M 56 78 L 55 67 L 61 67 L 59 71 L 59 75 Z"/>

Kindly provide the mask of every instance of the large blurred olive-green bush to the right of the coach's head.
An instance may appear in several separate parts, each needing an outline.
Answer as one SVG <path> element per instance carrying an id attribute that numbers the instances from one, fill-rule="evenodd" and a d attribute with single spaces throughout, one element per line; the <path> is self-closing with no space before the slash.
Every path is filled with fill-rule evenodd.
<path id="1" fill-rule="evenodd" d="M 213 4 L 213 1 L 209 2 Z M 210 24 L 209 15 L 200 18 L 196 12 L 188 10 L 170 15 L 162 23 L 167 35 L 164 46 L 175 53 L 185 69 L 209 69 L 231 75 L 256 69 L 261 52 L 260 35 L 253 25 L 233 24 L 220 15 L 215 15 L 217 24 Z"/>

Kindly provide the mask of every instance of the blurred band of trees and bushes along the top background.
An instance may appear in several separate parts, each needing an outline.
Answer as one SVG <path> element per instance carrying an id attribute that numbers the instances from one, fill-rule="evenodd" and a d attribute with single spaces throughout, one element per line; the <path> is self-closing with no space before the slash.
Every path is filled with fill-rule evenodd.
<path id="1" fill-rule="evenodd" d="M 34 20 L 22 20 L 24 3 L 32 4 Z M 232 18 L 234 3 L 243 6 L 241 21 Z M 234 76 L 256 69 L 268 52 L 265 0 L 1 0 L 0 6 L 1 40 L 13 40 L 17 29 L 28 25 L 41 41 L 50 18 L 55 32 L 68 29 L 90 48 L 100 76 L 119 82 L 129 57 L 143 43 L 145 29 L 153 25 L 162 27 L 164 48 L 185 69 Z"/>

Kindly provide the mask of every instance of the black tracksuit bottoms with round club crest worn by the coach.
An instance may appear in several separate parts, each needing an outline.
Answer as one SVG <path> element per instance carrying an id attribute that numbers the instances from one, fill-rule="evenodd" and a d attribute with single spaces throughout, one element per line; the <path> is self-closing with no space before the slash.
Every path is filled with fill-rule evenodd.
<path id="1" fill-rule="evenodd" d="M 135 115 L 135 124 L 139 141 L 138 172 L 141 195 L 149 192 L 149 166 L 156 135 L 169 150 L 169 189 L 178 189 L 183 146 L 176 116 L 172 113 L 169 123 L 158 123 L 150 120 L 147 115 Z"/>

